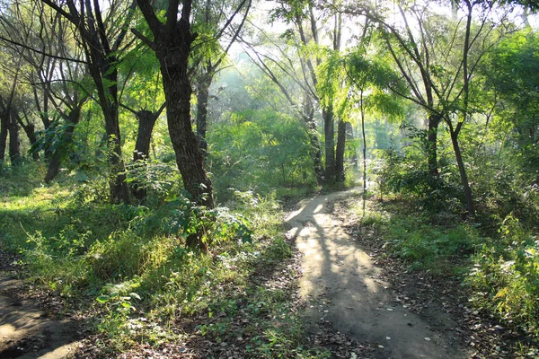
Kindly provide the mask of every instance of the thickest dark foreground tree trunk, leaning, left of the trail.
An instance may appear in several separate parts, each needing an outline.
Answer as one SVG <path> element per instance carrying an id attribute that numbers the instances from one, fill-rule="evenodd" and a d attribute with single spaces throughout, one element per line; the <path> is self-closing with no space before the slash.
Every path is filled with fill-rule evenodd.
<path id="1" fill-rule="evenodd" d="M 161 66 L 169 134 L 183 186 L 198 205 L 213 208 L 211 181 L 204 171 L 198 138 L 193 132 L 190 120 L 192 87 L 188 68 L 191 44 L 197 37 L 197 34 L 191 32 L 192 1 L 183 0 L 179 10 L 180 1 L 169 0 L 164 22 L 159 20 L 150 1 L 138 0 L 137 4 L 153 39 L 140 31 L 133 31 L 155 52 Z M 202 241 L 201 233 L 190 235 L 187 245 L 208 250 L 208 243 Z"/>

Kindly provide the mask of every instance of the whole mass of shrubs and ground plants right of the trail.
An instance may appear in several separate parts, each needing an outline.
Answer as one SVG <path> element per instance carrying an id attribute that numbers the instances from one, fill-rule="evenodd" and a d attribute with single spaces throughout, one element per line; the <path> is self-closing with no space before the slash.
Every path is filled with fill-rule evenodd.
<path id="1" fill-rule="evenodd" d="M 362 221 L 380 227 L 389 253 L 411 270 L 460 278 L 477 309 L 521 334 L 516 351 L 524 353 L 539 339 L 536 178 L 514 162 L 479 153 L 470 169 L 477 207 L 470 219 L 451 163 L 434 178 L 424 158 L 411 150 L 384 153 L 375 171 L 377 189 L 393 199 Z"/>

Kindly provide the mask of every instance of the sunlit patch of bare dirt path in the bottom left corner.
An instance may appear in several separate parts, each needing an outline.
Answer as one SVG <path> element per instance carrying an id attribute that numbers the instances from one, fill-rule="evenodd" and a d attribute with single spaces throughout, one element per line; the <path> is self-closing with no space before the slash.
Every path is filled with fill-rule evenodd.
<path id="1" fill-rule="evenodd" d="M 58 319 L 54 310 L 43 310 L 40 301 L 24 295 L 22 280 L 13 277 L 9 255 L 0 252 L 0 358 L 75 357 L 76 324 Z"/>

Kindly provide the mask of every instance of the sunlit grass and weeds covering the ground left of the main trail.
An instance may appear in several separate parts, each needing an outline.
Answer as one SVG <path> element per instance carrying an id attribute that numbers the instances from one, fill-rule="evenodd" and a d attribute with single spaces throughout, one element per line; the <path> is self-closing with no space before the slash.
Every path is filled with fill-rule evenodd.
<path id="1" fill-rule="evenodd" d="M 184 247 L 195 218 L 181 198 L 103 204 L 92 197 L 99 183 L 45 186 L 32 166 L 0 178 L 0 246 L 20 254 L 30 280 L 93 318 L 101 355 L 194 336 L 236 341 L 256 357 L 329 356 L 303 345 L 275 195 L 237 192 L 215 222 L 199 214 L 212 242 L 201 254 Z"/>

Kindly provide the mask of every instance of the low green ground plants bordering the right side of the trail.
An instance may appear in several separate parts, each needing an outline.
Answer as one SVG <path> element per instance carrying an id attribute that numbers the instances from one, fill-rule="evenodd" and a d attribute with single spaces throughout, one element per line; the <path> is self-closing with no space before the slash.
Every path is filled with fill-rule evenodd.
<path id="1" fill-rule="evenodd" d="M 457 215 L 418 210 L 410 199 L 369 200 L 352 207 L 362 230 L 384 238 L 386 254 L 410 271 L 458 278 L 469 302 L 503 327 L 521 333 L 516 353 L 534 352 L 539 338 L 539 241 L 512 214 L 496 235 Z M 530 349 L 530 347 L 532 349 Z M 534 352 L 535 353 L 535 352 Z"/>

